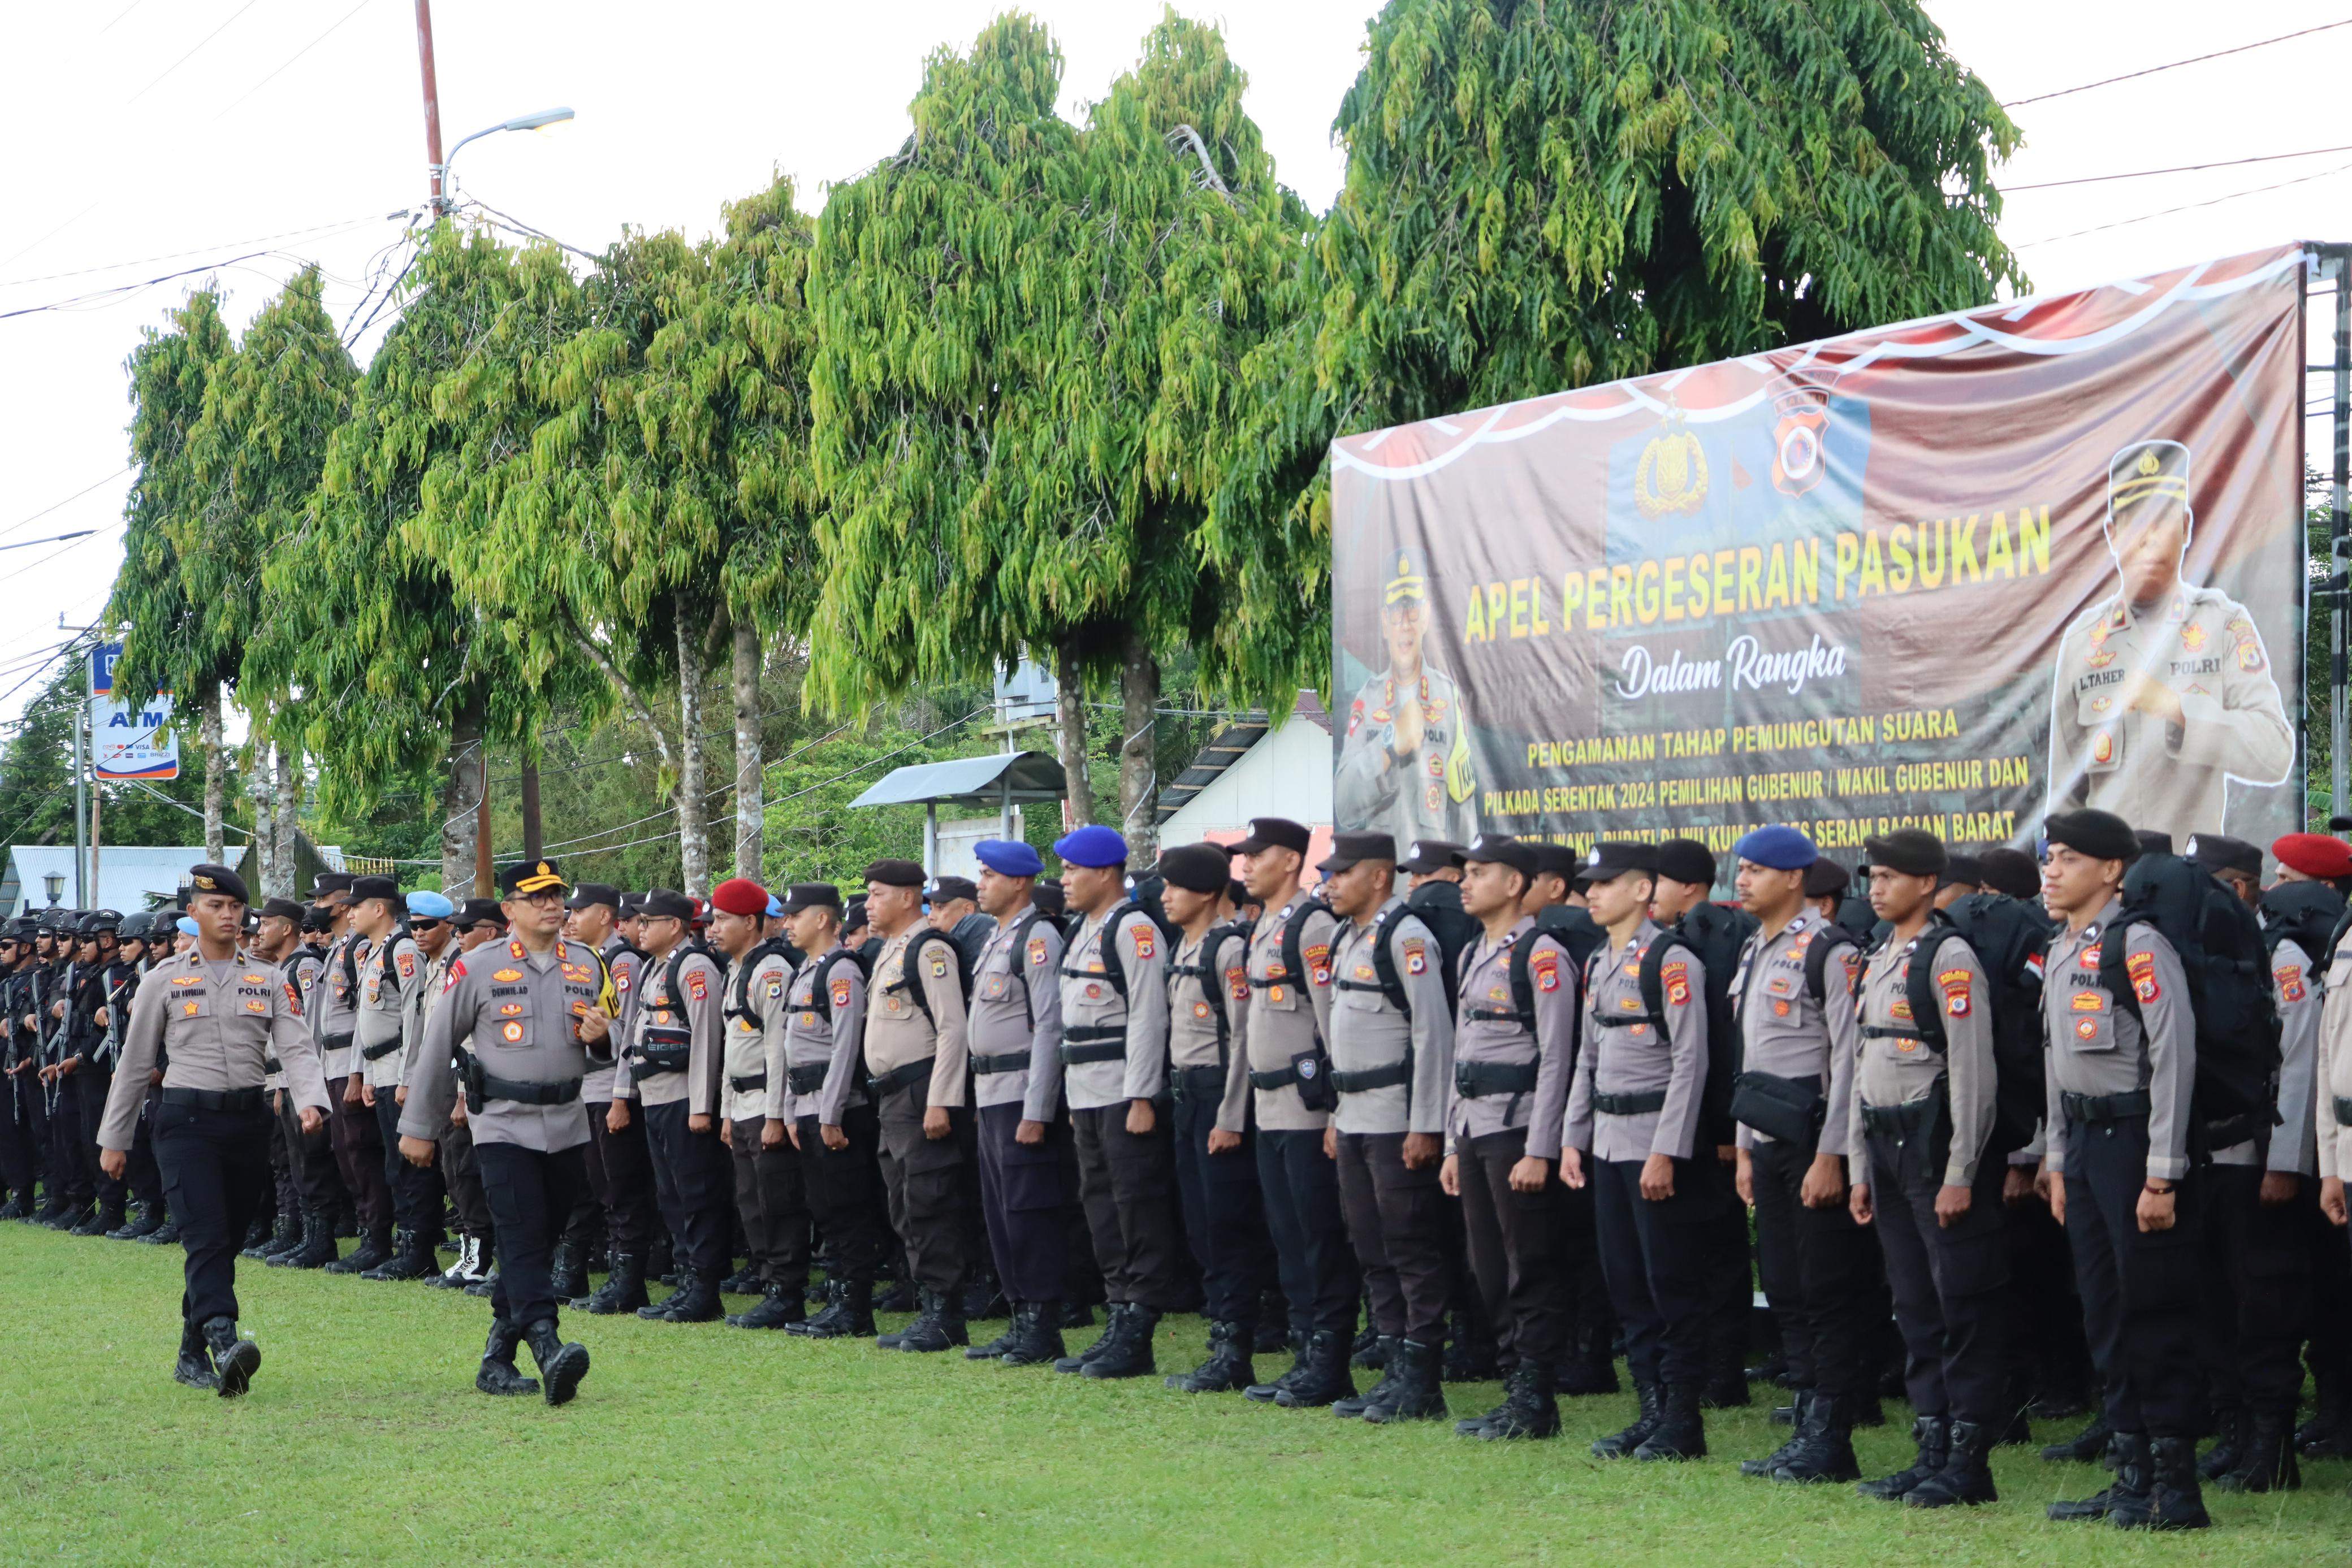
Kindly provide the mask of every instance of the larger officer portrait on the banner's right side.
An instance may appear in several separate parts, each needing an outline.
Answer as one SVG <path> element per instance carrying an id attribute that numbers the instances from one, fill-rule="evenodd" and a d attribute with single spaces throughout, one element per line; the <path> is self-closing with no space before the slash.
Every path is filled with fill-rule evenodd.
<path id="1" fill-rule="evenodd" d="M 2110 458 L 2117 592 L 2067 628 L 2051 684 L 2049 811 L 2096 806 L 2173 842 L 2225 830 L 2227 780 L 2274 785 L 2296 762 L 2253 614 L 2180 578 L 2190 484 L 2180 442 Z"/>

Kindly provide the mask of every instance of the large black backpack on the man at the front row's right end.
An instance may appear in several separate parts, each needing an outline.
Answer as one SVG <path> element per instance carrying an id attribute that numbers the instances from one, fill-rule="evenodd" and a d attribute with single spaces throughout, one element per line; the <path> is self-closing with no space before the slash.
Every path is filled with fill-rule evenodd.
<path id="1" fill-rule="evenodd" d="M 2180 954 L 2197 1018 L 2197 1119 L 2206 1147 L 2227 1147 L 2277 1124 L 2279 999 L 2270 987 L 2263 926 L 2237 893 L 2178 856 L 2140 856 L 2124 872 L 2124 912 L 2100 938 L 2098 983 L 2140 1018 L 2124 931 L 2154 926 Z"/>

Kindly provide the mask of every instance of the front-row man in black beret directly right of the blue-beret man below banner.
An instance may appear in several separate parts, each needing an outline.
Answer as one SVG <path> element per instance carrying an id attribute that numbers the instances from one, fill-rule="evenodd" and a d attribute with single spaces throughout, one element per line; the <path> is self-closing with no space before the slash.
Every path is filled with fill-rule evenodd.
<path id="1" fill-rule="evenodd" d="M 2006 1425 L 2009 1392 L 2006 1161 L 1985 1154 L 1992 987 L 1969 943 L 1936 922 L 1943 839 L 1898 827 L 1865 849 L 1870 907 L 1889 933 L 1863 961 L 1858 990 L 1846 1147 L 1867 1152 L 1867 1166 L 1853 1173 L 1849 1206 L 1886 1255 L 1919 1453 L 1860 1490 L 1912 1507 L 1992 1502 L 1985 1455 Z"/>

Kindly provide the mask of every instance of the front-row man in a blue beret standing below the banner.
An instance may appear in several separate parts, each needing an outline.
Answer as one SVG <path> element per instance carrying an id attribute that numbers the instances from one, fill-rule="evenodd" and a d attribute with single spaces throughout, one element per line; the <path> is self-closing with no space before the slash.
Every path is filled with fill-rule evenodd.
<path id="1" fill-rule="evenodd" d="M 1820 858 L 1795 827 L 1757 827 L 1738 853 L 1740 907 L 1762 922 L 1731 980 L 1743 1072 L 1738 1187 L 1755 1211 L 1764 1295 L 1780 1319 L 1797 1432 L 1743 1474 L 1858 1481 L 1853 1422 L 1872 1399 L 1879 1255 L 1846 1208 L 1853 1060 L 1860 1025 L 1853 938 L 1804 903 Z M 1818 947 L 1818 952 L 1816 952 Z"/>

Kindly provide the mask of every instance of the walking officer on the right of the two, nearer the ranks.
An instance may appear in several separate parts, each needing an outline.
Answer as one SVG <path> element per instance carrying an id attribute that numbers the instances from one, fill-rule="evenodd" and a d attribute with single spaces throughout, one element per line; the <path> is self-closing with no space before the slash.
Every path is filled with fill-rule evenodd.
<path id="1" fill-rule="evenodd" d="M 555 1239 L 588 1187 L 581 1079 L 593 1056 L 612 1051 L 612 1013 L 602 1006 L 604 971 L 595 952 L 562 936 L 564 879 L 555 863 L 508 865 L 499 891 L 508 936 L 449 964 L 449 990 L 416 1046 L 400 1154 L 416 1168 L 433 1164 L 449 1110 L 466 1098 L 499 1232 L 489 1340 L 475 1387 L 539 1392 L 560 1406 L 588 1375 L 588 1349 L 557 1333 Z M 459 1067 L 468 1039 L 473 1048 Z M 532 1347 L 536 1382 L 515 1368 L 517 1345 Z"/>

